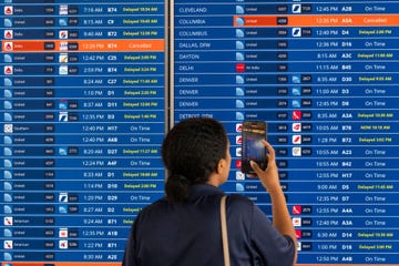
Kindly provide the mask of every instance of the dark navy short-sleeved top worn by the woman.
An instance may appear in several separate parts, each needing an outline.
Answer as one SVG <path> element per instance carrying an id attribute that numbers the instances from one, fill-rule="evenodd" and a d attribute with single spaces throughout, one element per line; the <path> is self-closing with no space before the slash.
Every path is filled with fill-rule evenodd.
<path id="1" fill-rule="evenodd" d="M 224 265 L 219 203 L 224 193 L 195 185 L 186 203 L 162 198 L 145 207 L 132 226 L 123 266 Z M 273 226 L 248 198 L 229 195 L 226 202 L 232 266 L 288 266 L 294 243 Z"/>

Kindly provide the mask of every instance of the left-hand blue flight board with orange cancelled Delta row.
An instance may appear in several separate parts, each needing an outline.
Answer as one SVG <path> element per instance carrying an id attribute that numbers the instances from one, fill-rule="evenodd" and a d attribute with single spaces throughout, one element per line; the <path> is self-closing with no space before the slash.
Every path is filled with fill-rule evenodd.
<path id="1" fill-rule="evenodd" d="M 120 265 L 163 196 L 163 1 L 1 4 L 2 265 Z"/>

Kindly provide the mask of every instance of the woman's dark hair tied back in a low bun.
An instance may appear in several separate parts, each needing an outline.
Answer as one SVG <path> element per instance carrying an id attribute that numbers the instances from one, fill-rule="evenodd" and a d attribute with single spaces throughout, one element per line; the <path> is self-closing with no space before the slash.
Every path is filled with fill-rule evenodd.
<path id="1" fill-rule="evenodd" d="M 190 186 L 203 184 L 226 157 L 227 134 L 224 126 L 209 117 L 193 117 L 175 124 L 162 144 L 162 160 L 168 171 L 166 197 L 183 202 Z"/>

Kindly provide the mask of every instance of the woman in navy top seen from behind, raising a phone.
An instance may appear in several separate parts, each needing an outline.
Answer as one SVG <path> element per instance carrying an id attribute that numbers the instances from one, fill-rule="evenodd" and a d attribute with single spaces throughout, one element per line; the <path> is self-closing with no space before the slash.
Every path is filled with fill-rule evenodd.
<path id="1" fill-rule="evenodd" d="M 293 265 L 295 231 L 279 185 L 274 149 L 268 166 L 252 167 L 269 193 L 273 224 L 248 198 L 229 195 L 226 203 L 232 266 Z M 165 198 L 145 207 L 132 226 L 123 266 L 224 265 L 219 202 L 231 168 L 229 142 L 213 119 L 188 119 L 176 124 L 162 145 L 170 175 Z"/>

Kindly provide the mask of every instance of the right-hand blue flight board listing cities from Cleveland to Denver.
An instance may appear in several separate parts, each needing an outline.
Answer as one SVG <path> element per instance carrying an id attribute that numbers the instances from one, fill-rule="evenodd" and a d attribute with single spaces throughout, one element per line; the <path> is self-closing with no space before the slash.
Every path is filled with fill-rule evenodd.
<path id="1" fill-rule="evenodd" d="M 399 265 L 398 1 L 175 0 L 174 120 L 268 123 L 299 265 Z"/>

